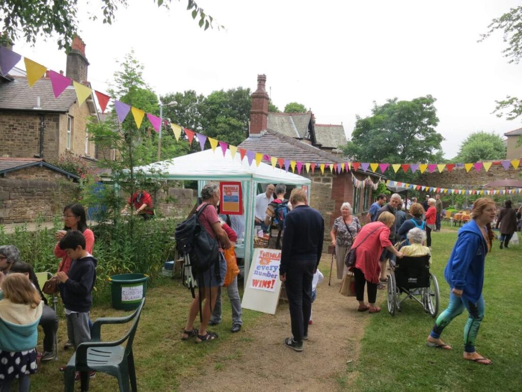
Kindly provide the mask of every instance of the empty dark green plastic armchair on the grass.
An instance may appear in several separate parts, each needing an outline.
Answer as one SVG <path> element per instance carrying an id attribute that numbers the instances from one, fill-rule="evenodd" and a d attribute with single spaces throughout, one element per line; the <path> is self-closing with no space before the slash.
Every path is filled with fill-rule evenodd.
<path id="1" fill-rule="evenodd" d="M 132 391 L 137 391 L 132 343 L 144 304 L 145 298 L 141 299 L 138 309 L 130 316 L 102 317 L 94 321 L 91 330 L 91 341 L 81 343 L 65 367 L 65 392 L 74 391 L 76 372 L 80 372 L 81 390 L 88 391 L 90 371 L 106 373 L 116 377 L 120 386 L 120 392 L 131 390 L 129 389 L 129 381 Z M 134 322 L 131 329 L 123 338 L 114 342 L 101 341 L 101 326 L 103 324 L 125 324 L 133 319 Z M 127 344 L 123 347 L 122 344 L 125 341 L 127 341 Z"/>

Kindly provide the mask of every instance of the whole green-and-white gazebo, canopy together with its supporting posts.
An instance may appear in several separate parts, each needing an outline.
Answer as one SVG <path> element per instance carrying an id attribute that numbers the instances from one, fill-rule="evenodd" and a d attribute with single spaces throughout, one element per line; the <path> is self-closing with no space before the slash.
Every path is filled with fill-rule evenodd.
<path id="1" fill-rule="evenodd" d="M 240 154 L 236 153 L 232 158 L 229 149 L 224 156 L 220 148 L 216 148 L 215 151 L 207 149 L 198 153 L 139 166 L 135 170 L 144 172 L 150 178 L 197 180 L 198 194 L 206 181 L 241 181 L 245 211 L 245 282 L 252 261 L 254 200 L 258 183 L 284 183 L 299 188 L 306 185 L 310 197 L 310 179 L 274 168 L 265 163 L 259 163 L 259 166 L 256 166 L 255 160 L 252 161 L 252 165 L 248 165 L 246 156 L 241 160 Z"/>

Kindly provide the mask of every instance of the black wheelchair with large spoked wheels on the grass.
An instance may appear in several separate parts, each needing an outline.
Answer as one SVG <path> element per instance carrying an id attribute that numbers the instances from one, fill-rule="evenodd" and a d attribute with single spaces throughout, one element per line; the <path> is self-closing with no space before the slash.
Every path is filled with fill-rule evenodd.
<path id="1" fill-rule="evenodd" d="M 400 297 L 404 294 L 404 297 Z M 388 274 L 388 312 L 394 316 L 403 301 L 413 299 L 432 317 L 438 313 L 440 294 L 438 282 L 430 272 L 430 256 L 405 256 L 397 259 Z"/>

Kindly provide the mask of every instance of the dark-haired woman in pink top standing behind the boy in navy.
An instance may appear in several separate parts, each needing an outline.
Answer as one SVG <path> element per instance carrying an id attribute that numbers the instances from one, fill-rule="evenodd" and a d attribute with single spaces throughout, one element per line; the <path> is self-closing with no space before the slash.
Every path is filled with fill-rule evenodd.
<path id="1" fill-rule="evenodd" d="M 94 233 L 92 230 L 87 228 L 87 218 L 85 216 L 84 206 L 78 203 L 67 204 L 64 208 L 64 224 L 65 227 L 63 230 L 58 230 L 56 232 L 56 239 L 58 243 L 63 238 L 67 230 L 80 230 L 80 232 L 84 233 L 85 237 L 85 249 L 92 255 L 92 247 L 94 246 Z M 58 271 L 63 271 L 65 273 L 69 272 L 70 263 L 73 261 L 65 250 L 60 249 L 56 243 L 54 247 L 54 256 L 58 258 L 62 258 L 62 261 L 58 265 Z"/>

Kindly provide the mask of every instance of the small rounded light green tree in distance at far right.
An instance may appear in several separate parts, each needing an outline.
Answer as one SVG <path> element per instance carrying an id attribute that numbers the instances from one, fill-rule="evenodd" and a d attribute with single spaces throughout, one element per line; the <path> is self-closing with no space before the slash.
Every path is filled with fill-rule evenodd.
<path id="1" fill-rule="evenodd" d="M 481 160 L 505 159 L 506 146 L 502 137 L 491 132 L 473 132 L 461 144 L 455 162 L 472 163 Z"/>

